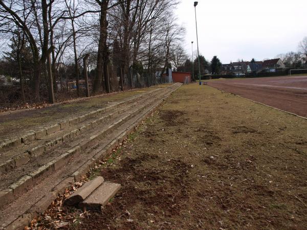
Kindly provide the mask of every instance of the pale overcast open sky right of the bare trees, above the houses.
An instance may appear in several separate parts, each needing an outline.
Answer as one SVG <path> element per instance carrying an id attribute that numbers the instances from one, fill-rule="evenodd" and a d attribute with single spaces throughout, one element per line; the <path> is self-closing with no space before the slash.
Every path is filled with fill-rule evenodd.
<path id="1" fill-rule="evenodd" d="M 196 6 L 199 50 L 222 63 L 274 58 L 297 51 L 307 36 L 307 0 L 199 0 Z M 184 48 L 196 51 L 193 0 L 181 0 L 178 21 L 186 28 Z"/>

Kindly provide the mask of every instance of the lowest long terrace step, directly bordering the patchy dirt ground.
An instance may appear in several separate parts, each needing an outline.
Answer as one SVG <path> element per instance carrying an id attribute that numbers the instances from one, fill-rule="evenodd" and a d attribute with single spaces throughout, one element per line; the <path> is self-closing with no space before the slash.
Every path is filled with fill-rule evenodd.
<path id="1" fill-rule="evenodd" d="M 9 205 L 0 205 L 0 229 L 1 227 L 6 227 L 8 225 L 13 226 L 15 223 L 18 223 L 19 219 L 23 219 L 27 222 L 28 219 L 24 215 L 29 214 L 33 217 L 35 213 L 32 212 L 32 208 L 39 206 L 42 201 L 43 204 L 45 204 L 45 200 L 47 198 L 51 203 L 55 198 L 54 196 L 47 196 L 48 194 L 53 195 L 54 191 L 57 191 L 58 194 L 62 194 L 65 188 L 68 188 L 72 183 L 79 180 L 80 175 L 85 175 L 87 171 L 94 167 L 95 163 L 97 163 L 100 159 L 105 159 L 112 152 L 112 149 L 124 140 L 126 135 L 133 131 L 137 125 L 139 125 L 147 116 L 149 116 L 157 105 L 159 105 L 169 94 L 171 94 L 173 90 L 177 89 L 179 86 L 180 84 L 174 84 L 172 86 L 165 87 L 166 90 L 164 92 L 160 91 L 161 93 L 158 100 L 152 100 L 151 98 L 152 101 L 147 101 L 147 103 L 149 102 L 147 106 L 137 106 L 133 109 L 134 111 L 123 114 L 123 116 L 126 117 L 126 119 L 122 118 L 122 120 L 125 120 L 124 122 L 116 126 L 115 129 L 112 129 L 112 132 L 108 132 L 106 135 L 101 136 L 101 138 L 97 138 L 97 140 L 90 146 L 82 148 L 82 151 L 81 148 L 79 148 L 79 154 L 73 154 L 73 157 L 69 158 L 68 160 L 65 159 L 65 164 L 63 164 L 61 167 L 56 169 L 50 168 L 51 170 L 47 170 L 46 173 L 40 174 L 39 177 L 35 178 L 35 181 L 33 180 L 33 177 L 31 180 L 33 186 L 29 187 L 29 190 L 25 190 L 21 196 L 11 197 L 13 200 L 9 201 Z M 109 123 L 107 122 L 103 127 L 97 127 L 95 132 L 101 132 L 103 131 L 101 128 L 107 129 L 108 126 Z M 92 133 L 87 133 L 87 135 L 84 133 L 83 136 L 80 136 L 80 141 L 89 139 L 90 134 Z M 77 142 L 78 140 L 76 140 L 75 143 L 71 143 L 70 146 L 59 146 L 59 148 L 62 150 L 61 152 L 65 152 L 67 149 L 75 146 L 75 144 L 78 144 Z M 50 158 L 52 162 L 54 157 L 56 156 L 54 155 L 52 158 Z M 34 170 L 35 167 L 30 168 L 31 170 Z M 8 195 L 13 194 L 8 193 Z M 2 196 L 2 198 L 6 200 L 9 199 L 6 196 Z M 1 200 L 2 199 L 0 199 L 0 201 Z M 8 201 L 5 203 L 7 202 Z"/>

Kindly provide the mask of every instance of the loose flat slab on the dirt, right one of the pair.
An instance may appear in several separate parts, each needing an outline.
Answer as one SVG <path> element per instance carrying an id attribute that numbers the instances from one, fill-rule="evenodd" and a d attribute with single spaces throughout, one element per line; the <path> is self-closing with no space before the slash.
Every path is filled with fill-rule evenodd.
<path id="1" fill-rule="evenodd" d="M 90 196 L 80 202 L 79 207 L 88 210 L 100 210 L 102 206 L 107 204 L 115 196 L 120 187 L 121 185 L 119 183 L 104 182 Z"/>

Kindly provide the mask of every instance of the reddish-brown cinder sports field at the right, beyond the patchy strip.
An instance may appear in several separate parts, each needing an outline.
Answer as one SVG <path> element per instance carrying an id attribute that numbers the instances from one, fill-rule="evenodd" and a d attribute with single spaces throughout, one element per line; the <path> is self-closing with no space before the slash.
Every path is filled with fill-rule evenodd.
<path id="1" fill-rule="evenodd" d="M 307 117 L 307 76 L 227 79 L 208 84 Z"/>

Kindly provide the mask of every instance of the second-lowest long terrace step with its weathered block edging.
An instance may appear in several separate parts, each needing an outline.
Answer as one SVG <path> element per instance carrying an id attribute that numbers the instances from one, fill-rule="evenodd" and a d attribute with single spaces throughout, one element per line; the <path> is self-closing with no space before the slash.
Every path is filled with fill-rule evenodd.
<path id="1" fill-rule="evenodd" d="M 165 94 L 167 95 L 170 91 L 172 91 L 172 87 L 160 91 L 161 94 L 159 96 L 163 98 L 165 97 Z M 109 125 L 109 123 L 104 124 L 103 127 L 97 127 L 94 133 L 84 133 L 75 141 L 68 143 L 68 147 L 59 146 L 56 149 L 49 150 L 49 154 L 46 153 L 41 155 L 43 157 L 41 157 L 39 161 L 41 165 L 40 167 L 38 165 L 38 159 L 32 159 L 26 165 L 15 168 L 18 170 L 18 174 L 16 174 L 17 171 L 15 170 L 8 171 L 7 174 L 3 174 L 1 177 L 2 181 L 0 182 L 0 185 L 2 185 L 4 189 L 2 190 L 3 192 L 0 192 L 0 197 L 6 197 L 6 199 L 3 200 L 3 204 L 8 203 L 13 198 L 22 195 L 28 187 L 34 186 L 41 177 L 46 176 L 50 172 L 59 170 L 59 168 L 61 168 L 64 164 L 67 164 L 72 157 L 78 158 L 78 155 L 80 155 L 81 152 L 86 151 L 87 146 L 95 146 L 95 143 L 99 142 L 101 139 L 104 139 L 105 136 L 111 134 L 119 126 L 135 117 L 137 114 L 142 113 L 142 110 L 146 109 L 148 106 L 150 107 L 156 102 L 157 98 L 151 98 L 147 100 L 145 104 L 143 103 L 140 106 L 133 108 L 133 110 L 130 110 L 127 115 L 122 114 L 124 117 L 120 116 L 122 119 L 117 118 L 119 120 L 112 122 L 112 125 Z M 90 139 L 89 136 L 91 136 Z M 17 179 L 17 177 L 19 179 Z M 76 175 L 74 175 L 74 177 L 78 178 Z M 8 188 L 5 190 L 5 187 L 7 186 Z"/>

